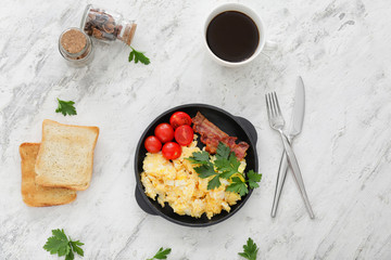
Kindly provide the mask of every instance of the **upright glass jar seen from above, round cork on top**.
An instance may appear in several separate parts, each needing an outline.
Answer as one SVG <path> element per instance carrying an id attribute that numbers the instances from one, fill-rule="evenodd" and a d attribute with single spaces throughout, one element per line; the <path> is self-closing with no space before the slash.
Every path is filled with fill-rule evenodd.
<path id="1" fill-rule="evenodd" d="M 71 27 L 60 35 L 59 50 L 72 67 L 83 67 L 93 57 L 91 39 L 76 27 Z"/>

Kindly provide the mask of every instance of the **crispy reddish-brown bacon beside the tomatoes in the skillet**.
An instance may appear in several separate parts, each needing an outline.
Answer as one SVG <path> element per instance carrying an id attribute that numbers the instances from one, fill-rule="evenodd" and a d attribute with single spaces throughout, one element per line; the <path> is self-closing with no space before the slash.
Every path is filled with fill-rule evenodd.
<path id="1" fill-rule="evenodd" d="M 240 160 L 244 158 L 250 145 L 247 142 L 236 143 L 238 138 L 229 136 L 213 122 L 207 120 L 200 112 L 192 118 L 193 130 L 201 134 L 201 142 L 206 145 L 206 152 L 215 154 L 219 142 L 225 143 Z"/>

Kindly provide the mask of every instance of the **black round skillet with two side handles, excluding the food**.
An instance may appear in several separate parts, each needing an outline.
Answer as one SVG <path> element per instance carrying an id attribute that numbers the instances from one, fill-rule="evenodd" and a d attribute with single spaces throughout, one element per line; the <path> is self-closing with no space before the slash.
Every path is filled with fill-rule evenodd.
<path id="1" fill-rule="evenodd" d="M 146 157 L 147 150 L 144 148 L 144 141 L 149 135 L 153 135 L 155 127 L 161 122 L 169 122 L 169 117 L 175 112 L 186 112 L 191 117 L 194 117 L 197 112 L 200 112 L 204 115 L 211 122 L 216 125 L 224 132 L 228 133 L 231 136 L 237 136 L 238 141 L 244 141 L 250 144 L 250 148 L 247 151 L 245 161 L 247 168 L 245 171 L 254 170 L 257 171 L 258 161 L 255 151 L 257 134 L 254 126 L 247 119 L 242 117 L 236 117 L 231 114 L 217 108 L 215 106 L 205 105 L 205 104 L 188 104 L 174 107 L 154 119 L 142 133 L 140 141 L 137 145 L 136 156 L 135 156 L 135 172 L 136 172 L 136 200 L 142 210 L 150 214 L 159 214 L 166 220 L 169 220 L 176 224 L 181 224 L 186 226 L 209 226 L 217 224 L 232 214 L 235 214 L 249 199 L 252 190 L 249 188 L 249 194 L 243 196 L 241 200 L 234 206 L 228 213 L 227 211 L 222 211 L 222 213 L 214 216 L 211 220 L 206 218 L 205 214 L 202 214 L 201 218 L 192 218 L 190 216 L 180 216 L 174 212 L 174 210 L 166 203 L 164 208 L 156 202 L 149 198 L 146 193 L 143 185 L 141 183 L 140 174 L 142 172 L 142 161 Z M 203 144 L 199 140 L 199 146 L 202 147 Z"/>

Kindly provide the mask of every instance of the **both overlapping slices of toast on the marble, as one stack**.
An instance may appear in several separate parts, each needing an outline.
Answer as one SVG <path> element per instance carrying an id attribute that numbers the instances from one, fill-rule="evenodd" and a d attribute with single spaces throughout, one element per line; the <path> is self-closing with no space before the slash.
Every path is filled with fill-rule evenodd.
<path id="1" fill-rule="evenodd" d="M 23 143 L 22 197 L 31 207 L 68 204 L 89 187 L 98 127 L 43 120 L 41 143 Z"/>

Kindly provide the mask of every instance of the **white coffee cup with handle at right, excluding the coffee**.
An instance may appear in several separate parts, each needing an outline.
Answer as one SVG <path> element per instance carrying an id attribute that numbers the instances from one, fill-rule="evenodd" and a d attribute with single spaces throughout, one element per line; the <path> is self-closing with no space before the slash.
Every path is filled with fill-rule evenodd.
<path id="1" fill-rule="evenodd" d="M 207 27 L 209 27 L 210 23 L 212 22 L 212 20 L 214 17 L 216 17 L 218 14 L 220 14 L 223 12 L 227 12 L 227 11 L 237 11 L 237 12 L 248 15 L 255 23 L 255 25 L 258 29 L 258 32 L 260 32 L 260 42 L 258 42 L 258 46 L 255 49 L 254 53 L 249 58 L 241 61 L 241 62 L 228 62 L 228 61 L 222 60 L 220 57 L 216 56 L 216 54 L 213 53 L 213 51 L 211 50 L 211 48 L 209 47 L 207 41 L 206 41 L 206 31 L 207 31 Z M 240 3 L 224 3 L 224 4 L 215 8 L 206 17 L 206 21 L 204 24 L 204 29 L 203 29 L 203 38 L 204 38 L 204 43 L 205 43 L 207 53 L 212 56 L 212 58 L 215 62 L 217 62 L 218 64 L 220 64 L 223 66 L 227 66 L 227 67 L 242 66 L 244 64 L 252 62 L 262 51 L 274 50 L 277 48 L 277 44 L 275 42 L 266 41 L 265 25 L 264 25 L 263 21 L 261 20 L 261 17 L 255 13 L 254 10 L 252 10 L 251 8 L 249 8 L 247 5 L 240 4 Z"/>

